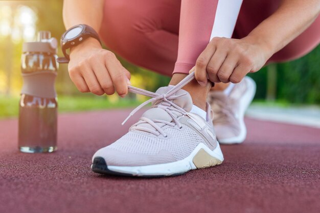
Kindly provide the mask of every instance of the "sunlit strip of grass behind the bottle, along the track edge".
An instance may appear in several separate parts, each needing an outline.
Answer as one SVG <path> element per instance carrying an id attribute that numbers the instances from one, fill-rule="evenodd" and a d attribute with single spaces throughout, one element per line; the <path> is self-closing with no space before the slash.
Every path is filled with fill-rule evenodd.
<path id="1" fill-rule="evenodd" d="M 0 119 L 17 117 L 19 113 L 19 96 L 0 96 Z M 80 112 L 104 109 L 133 108 L 141 102 L 132 98 L 110 100 L 105 96 L 59 96 L 59 112 Z"/>

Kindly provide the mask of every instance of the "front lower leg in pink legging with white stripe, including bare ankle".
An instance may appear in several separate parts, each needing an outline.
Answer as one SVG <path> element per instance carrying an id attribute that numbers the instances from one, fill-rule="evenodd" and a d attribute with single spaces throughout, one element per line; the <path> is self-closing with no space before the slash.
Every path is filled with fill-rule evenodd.
<path id="1" fill-rule="evenodd" d="M 211 38 L 232 36 L 241 2 L 242 0 L 232 4 L 218 0 L 181 2 L 178 57 L 171 84 L 176 84 L 184 74 L 189 73 Z M 197 107 L 205 109 L 210 83 L 201 87 L 194 81 L 184 89 L 191 94 Z"/>

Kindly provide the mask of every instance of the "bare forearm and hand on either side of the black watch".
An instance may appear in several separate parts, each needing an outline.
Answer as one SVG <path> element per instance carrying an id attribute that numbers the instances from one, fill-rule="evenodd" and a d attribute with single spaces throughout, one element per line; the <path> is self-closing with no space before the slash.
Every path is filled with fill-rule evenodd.
<path id="1" fill-rule="evenodd" d="M 104 0 L 65 0 L 63 21 L 65 27 L 87 24 L 99 32 L 103 17 Z M 103 49 L 100 43 L 89 38 L 71 49 L 68 64 L 69 75 L 80 92 L 96 95 L 128 93 L 130 72 L 126 70 L 113 52 Z"/>

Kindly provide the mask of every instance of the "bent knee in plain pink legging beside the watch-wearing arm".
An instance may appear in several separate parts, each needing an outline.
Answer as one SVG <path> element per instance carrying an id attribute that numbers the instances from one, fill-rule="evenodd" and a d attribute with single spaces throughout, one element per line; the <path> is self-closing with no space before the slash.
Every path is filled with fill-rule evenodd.
<path id="1" fill-rule="evenodd" d="M 179 0 L 106 1 L 100 36 L 129 62 L 171 76 L 179 16 Z"/>

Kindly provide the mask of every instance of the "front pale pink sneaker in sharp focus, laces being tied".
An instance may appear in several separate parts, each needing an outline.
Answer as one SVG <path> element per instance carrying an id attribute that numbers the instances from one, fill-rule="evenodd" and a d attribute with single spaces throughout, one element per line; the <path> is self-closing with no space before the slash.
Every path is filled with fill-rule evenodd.
<path id="1" fill-rule="evenodd" d="M 192 98 L 180 89 L 193 78 L 194 73 L 191 73 L 178 85 L 161 87 L 155 93 L 129 86 L 130 92 L 152 97 L 129 117 L 150 102 L 152 108 L 127 134 L 94 154 L 92 170 L 103 174 L 156 177 L 221 164 L 223 154 L 213 129 L 210 104 L 207 103 L 206 119 L 190 113 Z"/>

